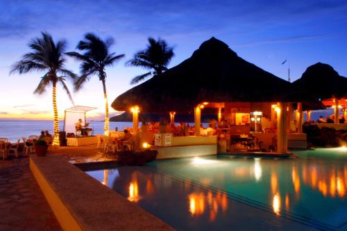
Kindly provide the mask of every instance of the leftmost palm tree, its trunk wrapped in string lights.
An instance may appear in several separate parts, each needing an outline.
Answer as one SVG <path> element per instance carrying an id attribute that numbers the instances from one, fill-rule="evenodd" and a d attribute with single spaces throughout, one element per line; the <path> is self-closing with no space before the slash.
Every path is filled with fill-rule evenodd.
<path id="1" fill-rule="evenodd" d="M 65 69 L 65 47 L 67 42 L 59 40 L 54 42 L 49 33 L 42 32 L 42 38 L 33 38 L 28 46 L 33 50 L 24 54 L 21 61 L 14 63 L 11 67 L 10 74 L 19 73 L 26 74 L 28 72 L 44 72 L 41 81 L 34 93 L 41 95 L 45 92 L 46 88 L 50 85 L 53 86 L 52 99 L 54 111 L 54 140 L 53 145 L 59 145 L 59 121 L 58 109 L 56 102 L 56 86 L 57 83 L 62 85 L 62 88 L 67 92 L 69 99 L 73 102 L 71 93 L 65 80 L 68 78 L 75 79 L 77 76 L 74 72 Z"/>

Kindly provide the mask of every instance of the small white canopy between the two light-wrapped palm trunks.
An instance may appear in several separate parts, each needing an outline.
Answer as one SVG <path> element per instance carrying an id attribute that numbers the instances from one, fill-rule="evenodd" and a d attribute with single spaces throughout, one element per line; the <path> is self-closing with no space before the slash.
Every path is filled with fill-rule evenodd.
<path id="1" fill-rule="evenodd" d="M 64 132 L 75 133 L 76 122 L 81 119 L 83 121 L 83 124 L 85 124 L 85 114 L 87 113 L 87 111 L 92 111 L 94 109 L 96 109 L 96 107 L 92 106 L 73 106 L 69 109 L 66 109 L 64 116 Z"/>

